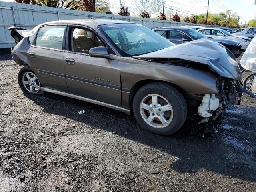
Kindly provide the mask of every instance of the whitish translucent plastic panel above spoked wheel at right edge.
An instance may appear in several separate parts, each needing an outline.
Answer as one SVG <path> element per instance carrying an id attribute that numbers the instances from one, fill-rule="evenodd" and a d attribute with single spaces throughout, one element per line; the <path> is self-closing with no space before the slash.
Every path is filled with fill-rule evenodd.
<path id="1" fill-rule="evenodd" d="M 246 70 L 256 72 L 256 36 L 250 42 L 241 58 L 240 64 Z"/>

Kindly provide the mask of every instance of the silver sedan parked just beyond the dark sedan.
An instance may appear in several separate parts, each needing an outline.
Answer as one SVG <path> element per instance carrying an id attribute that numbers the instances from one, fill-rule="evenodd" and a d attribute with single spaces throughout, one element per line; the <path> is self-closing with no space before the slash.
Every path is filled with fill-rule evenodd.
<path id="1" fill-rule="evenodd" d="M 239 44 L 242 46 L 241 49 L 243 50 L 246 50 L 246 48 L 251 42 L 251 39 L 248 37 L 238 36 L 236 35 L 237 33 L 234 33 L 234 35 L 232 35 L 229 32 L 226 32 L 225 30 L 219 29 L 219 28 L 204 28 L 204 29 L 198 29 L 198 31 L 210 38 L 218 37 L 218 38 L 228 38 L 228 39 L 235 40 L 239 42 Z"/>

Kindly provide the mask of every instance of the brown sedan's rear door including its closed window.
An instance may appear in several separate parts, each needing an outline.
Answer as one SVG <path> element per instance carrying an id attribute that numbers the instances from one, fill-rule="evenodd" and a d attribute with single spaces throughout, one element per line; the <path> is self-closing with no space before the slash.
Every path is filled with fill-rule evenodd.
<path id="1" fill-rule="evenodd" d="M 66 25 L 40 27 L 28 50 L 28 62 L 42 86 L 68 92 L 63 62 L 65 31 Z"/>

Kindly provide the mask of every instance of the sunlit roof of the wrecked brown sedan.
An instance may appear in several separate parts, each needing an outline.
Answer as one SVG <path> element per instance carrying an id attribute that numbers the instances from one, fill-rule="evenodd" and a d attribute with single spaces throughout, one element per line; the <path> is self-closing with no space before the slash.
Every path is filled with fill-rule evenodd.
<path id="1" fill-rule="evenodd" d="M 72 20 L 60 20 L 60 21 L 51 21 L 43 23 L 45 24 L 77 24 L 77 25 L 86 25 L 92 28 L 96 28 L 99 25 L 107 24 L 116 24 L 116 23 L 132 23 L 128 21 L 121 20 L 111 20 L 111 19 L 72 19 Z"/>

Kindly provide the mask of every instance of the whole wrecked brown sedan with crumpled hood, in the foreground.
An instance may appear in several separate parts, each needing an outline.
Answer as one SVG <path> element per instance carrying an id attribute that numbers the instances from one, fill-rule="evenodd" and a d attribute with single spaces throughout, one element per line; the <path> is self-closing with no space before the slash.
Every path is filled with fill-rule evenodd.
<path id="1" fill-rule="evenodd" d="M 142 128 L 157 134 L 176 132 L 187 117 L 216 120 L 240 104 L 242 92 L 255 98 L 237 84 L 234 55 L 196 31 L 161 34 L 131 22 L 92 19 L 9 30 L 17 43 L 12 57 L 23 65 L 18 83 L 24 93 L 51 92 L 133 113 Z M 166 40 L 180 35 L 193 41 L 176 46 Z"/>

